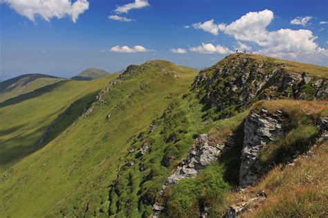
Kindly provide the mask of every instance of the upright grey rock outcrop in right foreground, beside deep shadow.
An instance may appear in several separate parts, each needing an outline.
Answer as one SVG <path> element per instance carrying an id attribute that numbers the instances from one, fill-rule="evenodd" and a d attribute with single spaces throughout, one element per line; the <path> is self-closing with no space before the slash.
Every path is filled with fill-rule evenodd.
<path id="1" fill-rule="evenodd" d="M 244 143 L 242 149 L 242 163 L 239 170 L 239 185 L 246 188 L 258 179 L 262 170 L 258 162 L 259 152 L 277 138 L 284 136 L 282 129 L 282 111 L 268 116 L 267 111 L 250 113 L 244 125 Z"/>

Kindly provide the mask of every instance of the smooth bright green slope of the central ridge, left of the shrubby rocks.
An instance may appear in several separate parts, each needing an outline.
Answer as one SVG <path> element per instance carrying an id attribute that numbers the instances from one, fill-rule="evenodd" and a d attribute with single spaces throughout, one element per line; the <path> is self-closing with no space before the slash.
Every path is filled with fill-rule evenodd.
<path id="1" fill-rule="evenodd" d="M 126 165 L 131 136 L 147 132 L 197 73 L 164 61 L 136 70 L 110 82 L 62 134 L 10 167 L 0 182 L 1 217 L 109 215 L 110 185 Z"/>

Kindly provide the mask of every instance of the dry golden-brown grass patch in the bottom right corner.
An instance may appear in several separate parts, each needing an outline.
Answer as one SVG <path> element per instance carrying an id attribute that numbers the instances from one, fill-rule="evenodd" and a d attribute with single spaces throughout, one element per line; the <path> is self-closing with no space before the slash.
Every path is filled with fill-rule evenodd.
<path id="1" fill-rule="evenodd" d="M 328 143 L 311 149 L 295 165 L 277 166 L 246 194 L 264 190 L 268 198 L 243 217 L 327 217 Z"/>

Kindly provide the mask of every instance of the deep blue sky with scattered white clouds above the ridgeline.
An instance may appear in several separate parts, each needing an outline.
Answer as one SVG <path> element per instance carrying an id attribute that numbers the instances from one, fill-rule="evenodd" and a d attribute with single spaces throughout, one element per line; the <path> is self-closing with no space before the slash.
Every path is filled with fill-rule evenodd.
<path id="1" fill-rule="evenodd" d="M 0 80 L 154 59 L 201 69 L 236 48 L 328 66 L 327 0 L 65 1 L 0 0 Z"/>

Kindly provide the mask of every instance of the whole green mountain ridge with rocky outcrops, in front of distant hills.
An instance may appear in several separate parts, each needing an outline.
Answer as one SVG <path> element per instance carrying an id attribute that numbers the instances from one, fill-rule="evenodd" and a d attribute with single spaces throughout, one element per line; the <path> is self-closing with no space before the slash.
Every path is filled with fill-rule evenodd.
<path id="1" fill-rule="evenodd" d="M 327 78 L 233 54 L 2 102 L 0 217 L 326 217 Z"/>

